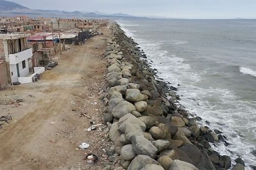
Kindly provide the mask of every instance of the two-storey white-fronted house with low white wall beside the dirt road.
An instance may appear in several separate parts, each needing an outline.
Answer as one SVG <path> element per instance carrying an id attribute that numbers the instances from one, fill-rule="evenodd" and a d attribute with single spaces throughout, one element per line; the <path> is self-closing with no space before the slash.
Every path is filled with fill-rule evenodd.
<path id="1" fill-rule="evenodd" d="M 27 43 L 29 36 L 29 34 L 0 34 L 0 58 L 5 60 L 10 83 L 32 82 L 32 78 L 36 74 L 36 72 L 34 74 L 29 72 L 33 56 L 32 48 Z M 41 74 L 44 68 L 36 70 L 39 70 L 39 74 Z"/>

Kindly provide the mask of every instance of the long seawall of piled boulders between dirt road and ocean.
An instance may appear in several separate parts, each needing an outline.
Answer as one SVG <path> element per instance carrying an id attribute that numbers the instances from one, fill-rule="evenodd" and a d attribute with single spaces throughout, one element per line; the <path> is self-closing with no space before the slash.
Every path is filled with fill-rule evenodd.
<path id="1" fill-rule="evenodd" d="M 109 110 L 103 122 L 121 159 L 116 169 L 245 169 L 241 158 L 231 167 L 229 156 L 211 148 L 210 143 L 226 142 L 225 136 L 199 126 L 200 117 L 179 105 L 176 88 L 156 79 L 138 44 L 117 24 L 112 29 L 104 54 L 108 87 L 101 99 Z"/>

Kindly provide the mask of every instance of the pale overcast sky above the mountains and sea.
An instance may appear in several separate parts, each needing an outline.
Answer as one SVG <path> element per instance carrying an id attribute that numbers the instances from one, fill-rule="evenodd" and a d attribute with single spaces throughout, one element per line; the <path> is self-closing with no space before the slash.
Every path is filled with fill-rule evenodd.
<path id="1" fill-rule="evenodd" d="M 256 0 L 10 0 L 31 9 L 173 18 L 256 18 Z"/>

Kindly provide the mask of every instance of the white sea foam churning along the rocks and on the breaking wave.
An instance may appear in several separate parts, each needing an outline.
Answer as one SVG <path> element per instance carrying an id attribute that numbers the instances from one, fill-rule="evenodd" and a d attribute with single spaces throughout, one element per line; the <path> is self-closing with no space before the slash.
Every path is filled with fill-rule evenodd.
<path id="1" fill-rule="evenodd" d="M 208 126 L 205 120 L 209 120 L 211 129 L 219 129 L 228 137 L 230 145 L 227 147 L 223 142 L 212 144 L 212 148 L 222 155 L 229 155 L 233 161 L 239 156 L 247 164 L 246 170 L 251 168 L 248 164 L 255 164 L 254 157 L 250 154 L 255 146 L 251 141 L 247 141 L 242 135 L 254 136 L 256 128 L 248 125 L 254 125 L 256 118 L 253 114 L 256 112 L 253 107 L 256 103 L 240 101 L 237 96 L 228 89 L 221 88 L 202 88 L 200 82 L 203 80 L 205 72 L 196 73 L 191 69 L 184 58 L 169 54 L 162 50 L 160 41 L 142 39 L 138 35 L 131 35 L 131 31 L 122 27 L 127 36 L 135 38 L 136 42 L 147 55 L 148 61 L 153 61 L 152 66 L 158 69 L 158 76 L 174 85 L 181 84 L 179 94 L 182 94 L 180 103 L 186 107 L 191 114 L 196 114 L 202 118 L 199 124 Z M 248 68 L 240 71 L 243 74 L 256 76 L 256 72 Z M 216 73 L 215 73 L 216 74 Z M 193 100 L 195 99 L 195 100 Z M 244 118 L 241 118 L 241 114 Z M 244 121 L 247 124 L 244 124 Z M 232 153 L 230 153 L 232 152 Z"/>

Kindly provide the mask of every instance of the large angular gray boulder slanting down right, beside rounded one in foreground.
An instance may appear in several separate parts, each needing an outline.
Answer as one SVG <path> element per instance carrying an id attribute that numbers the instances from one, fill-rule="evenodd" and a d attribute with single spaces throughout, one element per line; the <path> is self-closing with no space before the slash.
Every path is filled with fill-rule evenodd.
<path id="1" fill-rule="evenodd" d="M 144 136 L 135 136 L 132 139 L 133 149 L 137 155 L 147 155 L 155 158 L 157 155 L 157 148 L 148 141 Z"/>

